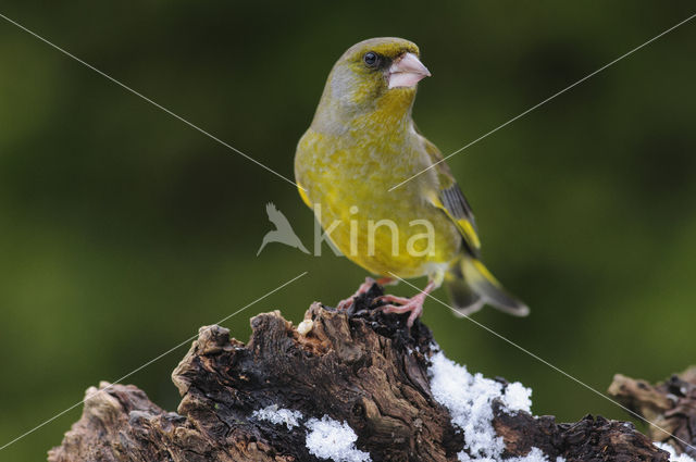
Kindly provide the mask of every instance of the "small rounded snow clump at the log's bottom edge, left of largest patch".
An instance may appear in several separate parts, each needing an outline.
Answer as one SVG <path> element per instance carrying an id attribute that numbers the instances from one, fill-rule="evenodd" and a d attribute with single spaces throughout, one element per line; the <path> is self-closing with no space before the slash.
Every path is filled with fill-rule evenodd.
<path id="1" fill-rule="evenodd" d="M 356 448 L 358 435 L 346 422 L 324 415 L 322 420 L 310 419 L 307 424 L 306 445 L 310 454 L 334 462 L 372 462 L 370 453 Z"/>

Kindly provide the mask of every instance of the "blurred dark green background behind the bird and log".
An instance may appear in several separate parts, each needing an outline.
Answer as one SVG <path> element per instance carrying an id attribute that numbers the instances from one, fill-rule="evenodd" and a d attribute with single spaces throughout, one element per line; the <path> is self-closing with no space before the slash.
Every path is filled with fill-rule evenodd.
<path id="1" fill-rule="evenodd" d="M 331 66 L 361 39 L 420 45 L 433 77 L 414 117 L 449 153 L 694 13 L 512 0 L 0 12 L 289 177 Z M 532 307 L 476 320 L 600 390 L 617 372 L 658 380 L 696 362 L 694 43 L 696 22 L 450 160 L 488 266 Z M 364 272 L 327 248 L 256 257 L 269 201 L 311 246 L 291 185 L 0 21 L 0 446 L 304 271 L 224 325 L 246 340 L 256 313 L 299 322 L 351 294 Z M 450 358 L 531 386 L 536 413 L 627 417 L 435 302 L 424 321 Z M 186 348 L 126 382 L 175 410 Z M 45 459 L 79 413 L 0 460 Z"/>

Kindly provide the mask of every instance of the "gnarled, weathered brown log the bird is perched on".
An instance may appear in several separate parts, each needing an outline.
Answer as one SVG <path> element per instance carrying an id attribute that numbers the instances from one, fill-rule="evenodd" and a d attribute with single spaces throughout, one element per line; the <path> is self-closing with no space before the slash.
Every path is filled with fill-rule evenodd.
<path id="1" fill-rule="evenodd" d="M 133 385 L 102 383 L 87 390 L 82 419 L 49 461 L 319 461 L 306 423 L 324 416 L 351 428 L 357 450 L 372 461 L 465 458 L 462 432 L 431 389 L 438 350 L 431 330 L 420 321 L 409 330 L 407 315 L 382 313 L 373 300 L 380 295 L 373 286 L 349 312 L 313 303 L 299 332 L 277 311 L 259 314 L 246 345 L 223 327 L 201 327 L 172 374 L 177 412 Z M 294 416 L 274 423 L 261 417 L 263 409 Z M 502 460 L 533 448 L 550 461 L 669 460 L 631 423 L 587 415 L 559 424 L 499 401 L 493 410 Z"/>

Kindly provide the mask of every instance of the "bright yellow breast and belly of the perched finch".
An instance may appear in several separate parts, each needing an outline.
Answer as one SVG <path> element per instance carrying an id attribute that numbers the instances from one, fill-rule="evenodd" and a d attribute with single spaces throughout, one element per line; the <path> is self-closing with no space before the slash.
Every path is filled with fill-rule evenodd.
<path id="1" fill-rule="evenodd" d="M 455 226 L 426 200 L 434 172 L 389 191 L 430 165 L 424 151 L 389 137 L 348 145 L 313 135 L 300 141 L 297 159 L 298 179 L 318 220 L 356 263 L 378 274 L 413 276 L 458 251 Z M 425 252 L 428 245 L 433 249 Z"/>

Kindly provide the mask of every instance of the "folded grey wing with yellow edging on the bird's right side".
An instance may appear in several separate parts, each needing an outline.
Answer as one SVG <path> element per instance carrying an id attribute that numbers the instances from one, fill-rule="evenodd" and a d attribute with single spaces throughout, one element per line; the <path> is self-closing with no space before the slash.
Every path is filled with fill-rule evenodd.
<path id="1" fill-rule="evenodd" d="M 457 225 L 457 228 L 464 238 L 467 247 L 477 257 L 481 249 L 481 241 L 478 240 L 476 222 L 471 205 L 469 205 L 464 193 L 459 188 L 449 166 L 443 160 L 443 154 L 439 152 L 439 149 L 422 135 L 421 139 L 433 164 L 436 164 L 433 168 L 437 172 L 439 183 L 439 190 L 436 195 L 433 195 L 431 202 L 445 212 L 455 225 Z"/>

